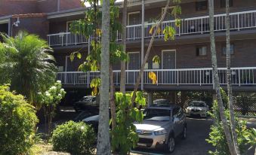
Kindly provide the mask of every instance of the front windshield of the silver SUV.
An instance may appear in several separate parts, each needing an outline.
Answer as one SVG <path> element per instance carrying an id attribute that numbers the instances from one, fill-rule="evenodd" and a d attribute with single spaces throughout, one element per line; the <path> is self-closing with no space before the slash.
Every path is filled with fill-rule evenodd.
<path id="1" fill-rule="evenodd" d="M 171 120 L 171 111 L 167 109 L 148 108 L 143 111 L 144 120 L 169 121 Z"/>

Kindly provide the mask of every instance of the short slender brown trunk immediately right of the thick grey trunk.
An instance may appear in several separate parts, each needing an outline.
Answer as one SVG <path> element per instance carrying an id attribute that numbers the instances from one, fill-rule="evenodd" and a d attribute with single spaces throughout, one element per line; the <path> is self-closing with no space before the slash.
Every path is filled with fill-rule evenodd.
<path id="1" fill-rule="evenodd" d="M 112 129 L 116 127 L 116 105 L 115 105 L 115 85 L 113 76 L 113 65 L 109 65 L 109 80 L 110 80 L 110 111 L 112 119 Z"/>

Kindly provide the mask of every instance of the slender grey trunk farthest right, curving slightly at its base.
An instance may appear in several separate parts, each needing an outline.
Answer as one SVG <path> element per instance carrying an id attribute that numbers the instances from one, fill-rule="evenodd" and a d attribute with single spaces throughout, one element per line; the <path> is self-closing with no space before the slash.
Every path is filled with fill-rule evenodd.
<path id="1" fill-rule="evenodd" d="M 240 150 L 237 144 L 236 134 L 236 120 L 233 106 L 233 95 L 231 87 L 231 59 L 230 59 L 230 0 L 226 0 L 226 39 L 227 39 L 227 94 L 229 97 L 229 108 L 230 108 L 230 129 L 233 138 L 233 144 L 235 146 L 236 154 L 240 154 Z"/>

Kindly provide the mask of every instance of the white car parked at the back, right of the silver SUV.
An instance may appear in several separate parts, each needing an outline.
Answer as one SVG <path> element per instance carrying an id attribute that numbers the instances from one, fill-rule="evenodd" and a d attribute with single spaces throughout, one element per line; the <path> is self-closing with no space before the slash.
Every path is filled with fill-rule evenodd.
<path id="1" fill-rule="evenodd" d="M 200 117 L 207 117 L 209 106 L 203 101 L 193 101 L 186 109 L 187 116 L 199 115 Z"/>

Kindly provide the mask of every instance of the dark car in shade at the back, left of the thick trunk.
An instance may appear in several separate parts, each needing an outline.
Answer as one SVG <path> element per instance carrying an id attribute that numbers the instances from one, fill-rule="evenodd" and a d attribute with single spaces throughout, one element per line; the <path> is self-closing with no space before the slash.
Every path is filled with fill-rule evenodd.
<path id="1" fill-rule="evenodd" d="M 90 108 L 98 108 L 95 96 L 84 96 L 78 102 L 74 103 L 75 111 L 87 110 Z"/>

